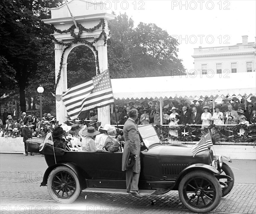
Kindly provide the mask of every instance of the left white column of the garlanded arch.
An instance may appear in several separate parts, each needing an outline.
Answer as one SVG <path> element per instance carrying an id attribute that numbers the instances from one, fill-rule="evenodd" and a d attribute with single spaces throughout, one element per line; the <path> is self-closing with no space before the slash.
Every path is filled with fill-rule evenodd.
<path id="1" fill-rule="evenodd" d="M 55 83 L 57 81 L 57 76 L 60 68 L 61 55 L 63 49 L 62 46 L 55 43 Z M 62 95 L 64 91 L 67 90 L 67 63 L 64 63 L 61 69 L 61 78 L 56 87 L 56 95 Z M 60 101 L 56 100 L 56 119 L 59 123 L 67 121 L 67 110 L 64 106 L 62 99 Z"/>

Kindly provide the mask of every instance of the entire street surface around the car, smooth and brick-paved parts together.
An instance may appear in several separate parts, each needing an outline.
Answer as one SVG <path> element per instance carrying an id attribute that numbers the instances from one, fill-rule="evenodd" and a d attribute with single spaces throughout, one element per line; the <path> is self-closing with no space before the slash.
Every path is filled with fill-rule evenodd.
<path id="1" fill-rule="evenodd" d="M 233 160 L 228 163 L 235 175 L 233 190 L 221 199 L 211 213 L 256 213 L 256 161 Z M 59 204 L 40 187 L 47 164 L 41 155 L 0 154 L 1 214 L 190 214 L 180 202 L 178 192 L 144 195 L 82 192 L 74 203 Z M 154 205 L 151 202 L 154 201 Z"/>

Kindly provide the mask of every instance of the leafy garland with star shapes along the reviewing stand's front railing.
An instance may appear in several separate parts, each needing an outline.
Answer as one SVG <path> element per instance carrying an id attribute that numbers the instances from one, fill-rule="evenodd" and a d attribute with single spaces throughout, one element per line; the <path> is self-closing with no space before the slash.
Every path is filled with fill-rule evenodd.
<path id="1" fill-rule="evenodd" d="M 184 136 L 184 128 L 186 130 L 186 133 Z M 256 140 L 256 124 L 253 124 L 251 126 L 247 126 L 244 124 L 239 124 L 236 126 L 216 126 L 214 124 L 209 125 L 208 127 L 199 128 L 199 127 L 193 127 L 193 126 L 173 126 L 173 127 L 167 127 L 167 126 L 161 126 L 156 125 L 156 129 L 160 130 L 160 135 L 163 136 L 163 139 L 172 139 L 177 141 L 195 141 L 198 140 L 199 137 L 204 135 L 204 133 L 208 132 L 208 129 L 213 129 L 214 132 L 212 134 L 212 141 L 213 143 L 217 141 L 225 141 L 225 142 L 253 142 Z M 244 130 L 243 135 L 239 135 L 240 129 Z M 172 136 L 169 135 L 169 130 L 177 131 L 178 136 Z M 229 137 L 226 135 L 228 133 L 228 130 L 233 131 Z M 194 136 L 192 136 L 194 135 Z"/>

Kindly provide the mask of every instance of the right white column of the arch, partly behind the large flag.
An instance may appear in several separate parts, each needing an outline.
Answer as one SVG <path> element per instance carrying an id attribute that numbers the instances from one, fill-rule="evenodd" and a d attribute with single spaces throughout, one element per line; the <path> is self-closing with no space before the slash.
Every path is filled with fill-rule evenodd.
<path id="1" fill-rule="evenodd" d="M 98 46 L 98 58 L 99 58 L 99 70 L 104 72 L 108 69 L 108 52 L 107 44 L 104 45 L 104 40 L 100 39 L 97 43 Z M 105 124 L 110 124 L 110 106 L 105 106 L 98 108 L 98 120 L 102 122 L 101 126 L 104 127 Z"/>

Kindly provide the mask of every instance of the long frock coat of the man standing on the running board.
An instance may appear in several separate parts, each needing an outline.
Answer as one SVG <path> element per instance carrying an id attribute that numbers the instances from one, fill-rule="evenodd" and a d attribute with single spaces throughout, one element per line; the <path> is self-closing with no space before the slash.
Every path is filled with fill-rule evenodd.
<path id="1" fill-rule="evenodd" d="M 125 138 L 125 146 L 122 155 L 122 171 L 131 170 L 134 173 L 140 173 L 140 136 L 135 122 L 131 119 L 128 119 L 125 122 L 123 132 Z M 135 160 L 133 167 L 127 169 L 126 163 L 130 153 L 137 155 L 137 159 Z"/>

